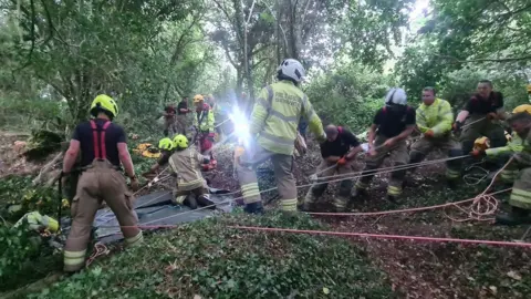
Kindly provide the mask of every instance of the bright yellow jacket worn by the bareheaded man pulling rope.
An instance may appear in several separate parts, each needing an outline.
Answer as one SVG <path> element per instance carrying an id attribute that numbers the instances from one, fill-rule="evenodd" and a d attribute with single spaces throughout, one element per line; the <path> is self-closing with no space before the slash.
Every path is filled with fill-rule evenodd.
<path id="1" fill-rule="evenodd" d="M 451 131 L 454 113 L 450 103 L 441 99 L 435 99 L 431 105 L 424 103 L 417 109 L 417 127 L 421 133 L 428 130 L 434 131 L 434 135 L 442 136 Z"/>

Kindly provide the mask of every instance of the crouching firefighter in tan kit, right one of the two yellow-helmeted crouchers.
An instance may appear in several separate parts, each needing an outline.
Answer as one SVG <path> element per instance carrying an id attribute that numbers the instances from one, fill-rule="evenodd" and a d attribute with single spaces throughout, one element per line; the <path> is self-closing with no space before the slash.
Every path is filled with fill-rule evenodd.
<path id="1" fill-rule="evenodd" d="M 174 190 L 175 203 L 186 205 L 191 209 L 209 206 L 216 209 L 210 202 L 207 182 L 202 178 L 201 164 L 208 164 L 209 157 L 188 147 L 188 138 L 177 135 L 174 138 L 175 153 L 169 157 L 169 166 L 177 174 L 177 187 Z"/>

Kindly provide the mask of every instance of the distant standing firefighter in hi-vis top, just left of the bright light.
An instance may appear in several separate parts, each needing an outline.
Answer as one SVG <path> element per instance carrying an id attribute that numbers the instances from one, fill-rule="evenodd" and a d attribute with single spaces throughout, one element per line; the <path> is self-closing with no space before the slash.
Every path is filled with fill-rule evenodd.
<path id="1" fill-rule="evenodd" d="M 204 171 L 211 169 L 216 166 L 214 158 L 214 111 L 209 104 L 205 103 L 205 97 L 200 94 L 194 96 L 196 106 L 196 116 L 194 117 L 194 126 L 196 127 L 196 136 L 199 140 L 199 152 L 201 155 L 209 154 L 210 163 L 202 166 Z"/>

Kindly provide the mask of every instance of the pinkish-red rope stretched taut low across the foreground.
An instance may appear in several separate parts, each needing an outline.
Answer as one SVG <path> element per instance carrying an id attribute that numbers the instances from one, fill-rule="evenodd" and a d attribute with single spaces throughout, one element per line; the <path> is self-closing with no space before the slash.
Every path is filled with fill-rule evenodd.
<path id="1" fill-rule="evenodd" d="M 428 241 L 428 243 L 459 243 L 459 244 L 512 246 L 512 247 L 531 248 L 531 243 L 438 238 L 438 237 L 403 236 L 403 235 L 379 235 L 379 234 L 367 234 L 367 233 L 308 230 L 308 229 L 257 227 L 257 226 L 228 226 L 228 227 L 233 229 L 240 229 L 240 230 L 254 230 L 254 231 L 267 231 L 267 233 L 292 233 L 292 234 L 330 235 L 330 236 L 358 237 L 358 238 L 398 239 L 398 240 Z"/>

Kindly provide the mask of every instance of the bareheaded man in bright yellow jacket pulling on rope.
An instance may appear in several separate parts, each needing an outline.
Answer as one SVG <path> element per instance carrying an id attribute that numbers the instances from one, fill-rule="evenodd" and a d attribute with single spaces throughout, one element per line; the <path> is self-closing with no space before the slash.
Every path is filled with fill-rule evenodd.
<path id="1" fill-rule="evenodd" d="M 423 90 L 423 104 L 416 111 L 416 122 L 423 136 L 412 145 L 409 164 L 421 162 L 435 148 L 446 151 L 449 157 L 462 155 L 460 144 L 451 136 L 454 113 L 450 103 L 436 97 L 434 87 Z M 446 163 L 446 178 L 450 187 L 455 187 L 459 179 L 460 167 L 458 159 Z"/>

